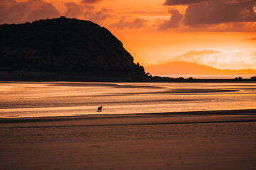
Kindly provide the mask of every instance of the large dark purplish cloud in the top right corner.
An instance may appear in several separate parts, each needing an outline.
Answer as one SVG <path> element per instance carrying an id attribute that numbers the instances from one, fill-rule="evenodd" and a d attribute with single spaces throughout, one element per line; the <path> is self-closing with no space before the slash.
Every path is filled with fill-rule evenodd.
<path id="1" fill-rule="evenodd" d="M 190 4 L 186 9 L 184 25 L 255 22 L 255 5 L 255 0 L 215 0 Z"/>

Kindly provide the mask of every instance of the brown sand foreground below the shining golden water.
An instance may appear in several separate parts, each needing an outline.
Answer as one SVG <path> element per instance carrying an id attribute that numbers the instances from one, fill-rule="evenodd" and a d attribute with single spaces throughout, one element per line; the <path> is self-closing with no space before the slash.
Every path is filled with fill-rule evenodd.
<path id="1" fill-rule="evenodd" d="M 0 169 L 255 169 L 255 114 L 0 120 Z"/>

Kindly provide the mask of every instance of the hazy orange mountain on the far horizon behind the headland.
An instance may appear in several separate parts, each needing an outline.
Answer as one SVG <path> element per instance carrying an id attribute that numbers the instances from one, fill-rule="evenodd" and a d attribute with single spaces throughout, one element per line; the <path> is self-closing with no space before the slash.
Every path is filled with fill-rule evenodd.
<path id="1" fill-rule="evenodd" d="M 206 65 L 195 64 L 191 62 L 169 62 L 167 64 L 154 65 L 144 67 L 146 72 L 153 75 L 164 75 L 164 74 L 256 74 L 254 69 L 215 69 Z"/>

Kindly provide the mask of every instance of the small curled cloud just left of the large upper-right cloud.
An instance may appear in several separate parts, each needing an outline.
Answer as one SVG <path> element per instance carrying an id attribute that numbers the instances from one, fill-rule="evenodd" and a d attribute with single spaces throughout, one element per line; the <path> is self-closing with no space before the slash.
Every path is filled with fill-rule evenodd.
<path id="1" fill-rule="evenodd" d="M 165 30 L 167 28 L 178 27 L 178 23 L 182 20 L 183 15 L 175 8 L 169 8 L 168 13 L 171 13 L 171 18 L 165 20 L 164 23 L 161 23 L 159 26 L 160 30 Z"/>

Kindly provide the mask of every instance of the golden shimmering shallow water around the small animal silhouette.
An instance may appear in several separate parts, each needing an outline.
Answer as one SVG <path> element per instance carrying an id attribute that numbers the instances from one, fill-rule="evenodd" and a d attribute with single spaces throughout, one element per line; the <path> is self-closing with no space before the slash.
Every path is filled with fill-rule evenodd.
<path id="1" fill-rule="evenodd" d="M 0 118 L 247 108 L 256 83 L 0 83 Z"/>

